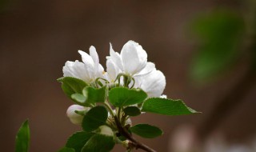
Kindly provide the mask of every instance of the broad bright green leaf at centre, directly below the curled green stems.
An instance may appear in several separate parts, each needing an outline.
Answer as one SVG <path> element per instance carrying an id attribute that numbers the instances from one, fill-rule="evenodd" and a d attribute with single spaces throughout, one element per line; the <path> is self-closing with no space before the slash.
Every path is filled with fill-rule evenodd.
<path id="1" fill-rule="evenodd" d="M 115 87 L 110 90 L 110 103 L 116 107 L 130 106 L 141 103 L 147 95 L 140 89 L 128 89 L 126 87 Z"/>

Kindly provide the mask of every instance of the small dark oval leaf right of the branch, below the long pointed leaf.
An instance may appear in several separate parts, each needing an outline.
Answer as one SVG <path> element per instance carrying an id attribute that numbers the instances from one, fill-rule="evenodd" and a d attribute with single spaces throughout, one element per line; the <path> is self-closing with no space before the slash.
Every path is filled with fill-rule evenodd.
<path id="1" fill-rule="evenodd" d="M 130 127 L 129 130 L 142 138 L 156 138 L 163 134 L 162 130 L 160 130 L 158 127 L 150 126 L 148 124 L 138 124 Z"/>

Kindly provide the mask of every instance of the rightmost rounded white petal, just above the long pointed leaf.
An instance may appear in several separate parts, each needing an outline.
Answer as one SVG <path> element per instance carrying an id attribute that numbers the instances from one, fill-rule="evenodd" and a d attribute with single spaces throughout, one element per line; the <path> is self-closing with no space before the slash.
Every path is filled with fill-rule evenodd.
<path id="1" fill-rule="evenodd" d="M 153 70 L 150 74 L 135 78 L 135 87 L 144 90 L 149 98 L 160 97 L 166 87 L 166 77 L 160 70 Z"/>

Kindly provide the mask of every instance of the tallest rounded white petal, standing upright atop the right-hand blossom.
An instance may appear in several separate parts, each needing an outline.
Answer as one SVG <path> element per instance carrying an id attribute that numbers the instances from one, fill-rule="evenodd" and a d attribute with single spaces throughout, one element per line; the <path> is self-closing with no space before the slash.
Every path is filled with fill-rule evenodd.
<path id="1" fill-rule="evenodd" d="M 146 51 L 137 42 L 126 42 L 121 57 L 124 71 L 128 74 L 137 74 L 146 66 Z"/>

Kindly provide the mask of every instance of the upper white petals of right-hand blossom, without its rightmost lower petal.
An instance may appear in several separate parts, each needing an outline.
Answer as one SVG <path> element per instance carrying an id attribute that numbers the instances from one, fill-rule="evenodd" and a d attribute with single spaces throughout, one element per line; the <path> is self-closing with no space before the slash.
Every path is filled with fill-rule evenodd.
<path id="1" fill-rule="evenodd" d="M 106 59 L 106 71 L 110 78 L 115 78 L 121 72 L 136 76 L 154 70 L 154 63 L 147 62 L 146 51 L 134 41 L 126 42 L 120 54 L 114 52 L 110 44 L 110 56 Z"/>

